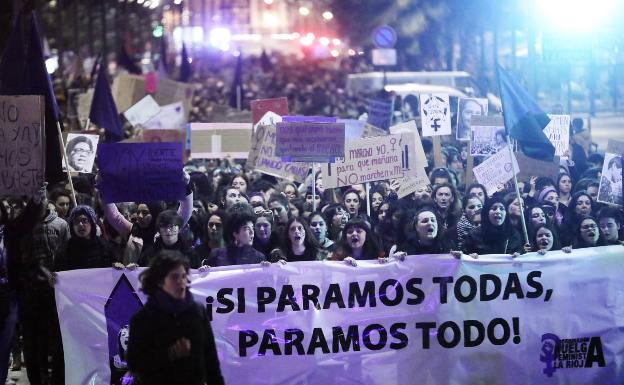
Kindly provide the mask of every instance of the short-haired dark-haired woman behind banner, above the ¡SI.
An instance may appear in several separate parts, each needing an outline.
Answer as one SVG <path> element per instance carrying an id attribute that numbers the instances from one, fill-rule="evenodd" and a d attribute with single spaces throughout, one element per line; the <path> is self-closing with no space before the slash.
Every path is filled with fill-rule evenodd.
<path id="1" fill-rule="evenodd" d="M 225 247 L 212 250 L 207 266 L 229 266 L 262 263 L 264 254 L 253 248 L 256 218 L 247 211 L 234 211 L 225 221 Z"/>

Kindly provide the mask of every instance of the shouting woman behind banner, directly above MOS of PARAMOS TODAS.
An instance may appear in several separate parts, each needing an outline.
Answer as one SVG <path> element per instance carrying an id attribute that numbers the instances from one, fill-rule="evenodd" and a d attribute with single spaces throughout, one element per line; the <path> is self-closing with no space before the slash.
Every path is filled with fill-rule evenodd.
<path id="1" fill-rule="evenodd" d="M 345 261 L 353 266 L 357 260 L 374 260 L 384 258 L 385 253 L 371 231 L 370 225 L 362 219 L 355 218 L 347 222 L 342 238 L 329 259 Z"/>

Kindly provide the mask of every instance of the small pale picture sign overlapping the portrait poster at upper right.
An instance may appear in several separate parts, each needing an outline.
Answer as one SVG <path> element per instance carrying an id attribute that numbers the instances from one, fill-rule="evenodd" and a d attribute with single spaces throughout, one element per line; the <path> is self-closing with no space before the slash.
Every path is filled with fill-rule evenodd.
<path id="1" fill-rule="evenodd" d="M 472 143 L 470 155 L 489 156 L 507 145 L 505 122 L 502 116 L 473 116 L 470 120 Z"/>

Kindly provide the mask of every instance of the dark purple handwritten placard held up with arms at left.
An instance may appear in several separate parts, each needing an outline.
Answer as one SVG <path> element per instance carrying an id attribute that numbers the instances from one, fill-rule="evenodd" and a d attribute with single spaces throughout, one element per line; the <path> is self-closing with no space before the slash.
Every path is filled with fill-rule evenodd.
<path id="1" fill-rule="evenodd" d="M 102 143 L 98 148 L 104 201 L 176 201 L 184 197 L 182 143 Z"/>

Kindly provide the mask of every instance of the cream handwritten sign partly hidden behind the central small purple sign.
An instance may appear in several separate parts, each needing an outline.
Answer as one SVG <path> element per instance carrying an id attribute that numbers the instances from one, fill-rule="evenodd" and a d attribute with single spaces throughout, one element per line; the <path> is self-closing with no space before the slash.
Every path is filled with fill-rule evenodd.
<path id="1" fill-rule="evenodd" d="M 281 116 L 267 112 L 254 131 L 247 161 L 267 175 L 303 182 L 312 166 L 304 162 L 284 162 L 275 155 L 276 128 L 270 122 L 281 121 Z M 266 125 L 263 123 L 267 123 Z"/>

